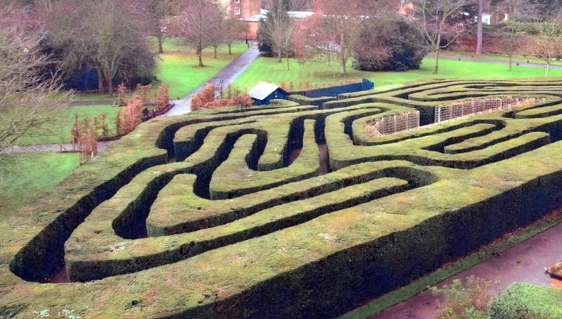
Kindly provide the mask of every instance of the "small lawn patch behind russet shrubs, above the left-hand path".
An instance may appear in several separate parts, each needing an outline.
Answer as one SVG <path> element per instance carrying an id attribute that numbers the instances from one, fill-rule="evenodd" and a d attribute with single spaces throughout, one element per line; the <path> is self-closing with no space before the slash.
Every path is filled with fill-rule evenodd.
<path id="1" fill-rule="evenodd" d="M 87 106 L 71 106 L 63 107 L 62 117 L 65 118 L 65 122 L 61 124 L 58 134 L 33 137 L 33 138 L 22 138 L 18 139 L 16 143 L 20 146 L 34 145 L 34 144 L 58 144 L 60 137 L 62 137 L 63 143 L 71 143 L 71 130 L 74 125 L 74 114 L 78 114 L 78 121 L 83 120 L 85 117 L 90 117 L 93 120 L 94 117 L 101 113 L 107 115 L 106 122 L 108 123 L 111 135 L 115 134 L 115 114 L 119 112 L 119 107 L 112 105 L 87 105 Z"/>

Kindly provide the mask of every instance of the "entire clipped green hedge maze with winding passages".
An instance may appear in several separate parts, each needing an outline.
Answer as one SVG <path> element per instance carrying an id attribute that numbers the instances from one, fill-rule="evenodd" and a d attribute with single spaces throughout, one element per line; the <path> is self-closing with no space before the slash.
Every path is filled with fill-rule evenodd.
<path id="1" fill-rule="evenodd" d="M 562 79 L 349 95 L 142 124 L 0 229 L 0 316 L 330 318 L 562 204 Z"/>

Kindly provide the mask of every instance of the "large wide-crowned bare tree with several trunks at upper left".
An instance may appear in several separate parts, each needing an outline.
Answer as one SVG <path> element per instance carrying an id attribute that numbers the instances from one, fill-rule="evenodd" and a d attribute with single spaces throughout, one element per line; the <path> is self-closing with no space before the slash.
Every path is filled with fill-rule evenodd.
<path id="1" fill-rule="evenodd" d="M 134 3 L 126 0 L 60 0 L 44 2 L 42 20 L 49 45 L 62 55 L 67 76 L 84 65 L 98 75 L 101 93 L 113 93 L 112 79 L 153 74 L 155 55 L 146 35 L 148 27 Z M 133 57 L 133 58 L 131 58 Z"/>

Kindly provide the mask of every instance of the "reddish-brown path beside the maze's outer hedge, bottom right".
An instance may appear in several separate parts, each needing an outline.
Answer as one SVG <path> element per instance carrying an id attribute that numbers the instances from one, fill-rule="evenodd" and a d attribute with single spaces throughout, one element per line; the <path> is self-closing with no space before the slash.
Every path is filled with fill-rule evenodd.
<path id="1" fill-rule="evenodd" d="M 500 290 L 512 282 L 525 282 L 537 286 L 550 286 L 550 276 L 545 269 L 562 259 L 562 224 L 552 227 L 527 241 L 505 250 L 439 283 L 438 287 L 451 284 L 454 279 L 465 279 L 471 275 L 490 280 L 500 281 Z M 496 292 L 498 292 L 496 290 Z M 369 319 L 430 319 L 434 318 L 443 298 L 423 291 L 413 298 L 396 304 L 389 309 L 377 313 Z"/>

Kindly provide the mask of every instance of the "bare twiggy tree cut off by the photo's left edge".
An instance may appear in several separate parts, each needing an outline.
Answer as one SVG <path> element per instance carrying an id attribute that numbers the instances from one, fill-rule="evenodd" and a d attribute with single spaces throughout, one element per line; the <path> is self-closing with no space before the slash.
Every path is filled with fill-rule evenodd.
<path id="1" fill-rule="evenodd" d="M 0 153 L 26 137 L 59 132 L 60 92 L 56 64 L 42 52 L 42 36 L 28 32 L 28 17 L 0 8 Z"/>

